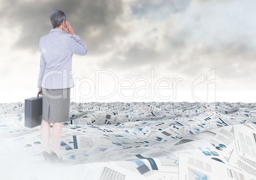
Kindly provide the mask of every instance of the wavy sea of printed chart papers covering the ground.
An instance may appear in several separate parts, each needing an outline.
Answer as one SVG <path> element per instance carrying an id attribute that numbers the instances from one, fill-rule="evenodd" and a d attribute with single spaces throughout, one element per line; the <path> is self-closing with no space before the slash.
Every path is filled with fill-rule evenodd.
<path id="1" fill-rule="evenodd" d="M 43 151 L 24 103 L 0 104 L 0 179 L 256 179 L 256 103 L 71 103 L 63 161 Z"/>

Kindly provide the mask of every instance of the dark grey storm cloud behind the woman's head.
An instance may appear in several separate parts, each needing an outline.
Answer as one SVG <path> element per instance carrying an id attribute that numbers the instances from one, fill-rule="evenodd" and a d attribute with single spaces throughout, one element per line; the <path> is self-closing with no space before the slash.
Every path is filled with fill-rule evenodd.
<path id="1" fill-rule="evenodd" d="M 124 32 L 117 22 L 123 14 L 122 1 L 118 0 L 6 0 L 2 4 L 0 15 L 7 21 L 7 28 L 20 27 L 21 35 L 15 44 L 16 48 L 32 48 L 32 51 L 37 51 L 39 37 L 52 28 L 49 16 L 55 9 L 67 14 L 75 33 L 88 44 L 91 55 L 107 51 L 106 44 L 112 42 L 115 35 Z"/>

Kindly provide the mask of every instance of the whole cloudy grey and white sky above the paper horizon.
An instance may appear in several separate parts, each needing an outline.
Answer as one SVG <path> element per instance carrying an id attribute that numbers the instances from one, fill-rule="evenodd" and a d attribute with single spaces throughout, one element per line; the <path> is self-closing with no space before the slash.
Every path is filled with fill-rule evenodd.
<path id="1" fill-rule="evenodd" d="M 0 103 L 36 96 L 53 10 L 89 49 L 71 101 L 255 103 L 256 1 L 0 0 Z"/>

